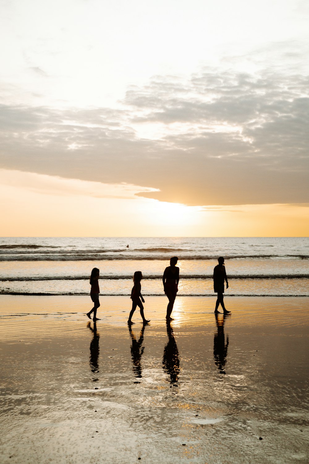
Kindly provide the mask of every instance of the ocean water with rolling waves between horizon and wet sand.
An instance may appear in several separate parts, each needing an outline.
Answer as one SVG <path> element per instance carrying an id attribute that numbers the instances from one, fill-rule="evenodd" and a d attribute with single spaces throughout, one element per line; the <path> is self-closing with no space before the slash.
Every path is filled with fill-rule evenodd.
<path id="1" fill-rule="evenodd" d="M 129 245 L 127 247 L 127 245 Z M 223 256 L 226 296 L 309 296 L 309 238 L 0 238 L 0 293 L 87 295 L 93 267 L 101 295 L 130 295 L 134 271 L 142 294 L 164 295 L 162 275 L 179 258 L 179 296 L 214 295 Z"/>

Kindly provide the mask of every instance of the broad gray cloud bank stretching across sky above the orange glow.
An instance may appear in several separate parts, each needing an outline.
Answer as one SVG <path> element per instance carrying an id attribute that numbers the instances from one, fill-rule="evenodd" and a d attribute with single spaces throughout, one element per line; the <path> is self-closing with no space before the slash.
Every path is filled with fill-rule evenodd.
<path id="1" fill-rule="evenodd" d="M 122 110 L 2 106 L 0 167 L 145 185 L 160 192 L 143 196 L 190 205 L 305 203 L 308 84 L 206 69 L 132 87 Z M 138 136 L 149 122 L 161 138 Z"/>

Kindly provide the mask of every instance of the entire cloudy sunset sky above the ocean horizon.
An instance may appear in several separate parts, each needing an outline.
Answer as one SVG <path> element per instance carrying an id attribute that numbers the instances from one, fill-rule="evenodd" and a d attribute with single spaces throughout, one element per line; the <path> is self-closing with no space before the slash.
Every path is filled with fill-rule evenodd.
<path id="1" fill-rule="evenodd" d="M 308 20 L 0 1 L 0 235 L 308 236 Z"/>

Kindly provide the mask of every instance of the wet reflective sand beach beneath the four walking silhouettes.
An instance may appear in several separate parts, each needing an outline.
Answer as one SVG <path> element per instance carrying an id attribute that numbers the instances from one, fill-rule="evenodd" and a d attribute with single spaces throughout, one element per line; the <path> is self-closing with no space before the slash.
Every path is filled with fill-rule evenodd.
<path id="1" fill-rule="evenodd" d="M 1 296 L 2 463 L 307 463 L 308 303 Z"/>

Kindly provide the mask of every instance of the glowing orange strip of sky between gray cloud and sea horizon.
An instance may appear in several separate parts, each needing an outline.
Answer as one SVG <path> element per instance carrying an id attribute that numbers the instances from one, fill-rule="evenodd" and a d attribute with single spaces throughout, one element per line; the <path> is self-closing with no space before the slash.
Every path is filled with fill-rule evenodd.
<path id="1" fill-rule="evenodd" d="M 0 170 L 2 236 L 308 236 L 309 205 L 185 206 L 151 188 Z"/>

